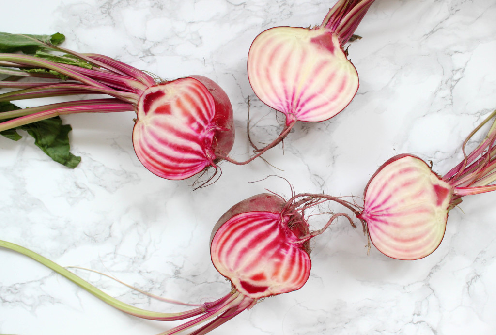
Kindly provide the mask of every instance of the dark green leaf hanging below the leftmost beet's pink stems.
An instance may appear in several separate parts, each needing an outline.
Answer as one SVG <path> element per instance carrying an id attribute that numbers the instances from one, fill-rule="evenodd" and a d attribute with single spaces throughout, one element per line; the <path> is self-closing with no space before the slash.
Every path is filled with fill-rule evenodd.
<path id="1" fill-rule="evenodd" d="M 18 109 L 20 108 L 8 101 L 0 102 L 0 112 Z M 81 157 L 74 156 L 69 152 L 69 132 L 72 128 L 68 124 L 62 124 L 62 119 L 59 116 L 26 124 L 15 129 L 4 130 L 0 132 L 0 135 L 18 141 L 22 136 L 16 130 L 27 131 L 29 135 L 34 137 L 36 146 L 55 162 L 67 168 L 75 168 L 81 162 Z"/>

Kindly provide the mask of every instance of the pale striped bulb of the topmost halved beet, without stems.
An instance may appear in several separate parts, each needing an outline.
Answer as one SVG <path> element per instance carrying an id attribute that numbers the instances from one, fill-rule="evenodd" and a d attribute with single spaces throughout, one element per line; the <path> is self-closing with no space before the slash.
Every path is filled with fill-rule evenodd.
<path id="1" fill-rule="evenodd" d="M 342 111 L 358 90 L 358 73 L 338 38 L 324 29 L 276 27 L 253 42 L 249 82 L 258 98 L 293 120 L 322 121 Z"/>

